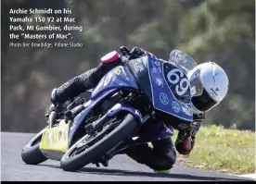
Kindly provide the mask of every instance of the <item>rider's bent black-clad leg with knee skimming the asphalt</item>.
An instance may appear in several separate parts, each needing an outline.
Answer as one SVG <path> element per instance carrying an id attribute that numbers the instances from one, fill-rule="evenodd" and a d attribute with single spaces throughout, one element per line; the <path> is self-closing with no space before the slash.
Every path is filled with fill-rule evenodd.
<path id="1" fill-rule="evenodd" d="M 176 152 L 171 138 L 152 142 L 153 148 L 148 144 L 139 144 L 125 150 L 125 153 L 137 163 L 152 168 L 155 172 L 170 173 L 176 161 Z"/>

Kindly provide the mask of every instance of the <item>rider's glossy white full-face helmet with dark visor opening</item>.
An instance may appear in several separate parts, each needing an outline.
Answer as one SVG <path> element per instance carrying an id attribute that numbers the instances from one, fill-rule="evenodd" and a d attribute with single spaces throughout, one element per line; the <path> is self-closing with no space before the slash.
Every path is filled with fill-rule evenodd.
<path id="1" fill-rule="evenodd" d="M 224 69 L 216 63 L 207 62 L 187 72 L 191 85 L 192 107 L 202 113 L 220 104 L 228 91 L 228 78 Z"/>

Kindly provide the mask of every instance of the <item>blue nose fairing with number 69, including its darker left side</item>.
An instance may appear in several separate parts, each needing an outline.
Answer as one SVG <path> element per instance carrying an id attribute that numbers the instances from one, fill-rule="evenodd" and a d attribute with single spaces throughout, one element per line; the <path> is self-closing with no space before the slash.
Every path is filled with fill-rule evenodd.
<path id="1" fill-rule="evenodd" d="M 148 100 L 156 109 L 173 117 L 193 121 L 190 85 L 184 71 L 151 56 L 130 60 L 128 67 L 134 75 L 137 85 L 145 92 Z M 180 75 L 176 79 L 176 83 L 172 84 L 169 81 L 170 76 L 173 77 L 170 74 Z M 185 81 L 186 92 L 179 95 L 180 85 Z"/>

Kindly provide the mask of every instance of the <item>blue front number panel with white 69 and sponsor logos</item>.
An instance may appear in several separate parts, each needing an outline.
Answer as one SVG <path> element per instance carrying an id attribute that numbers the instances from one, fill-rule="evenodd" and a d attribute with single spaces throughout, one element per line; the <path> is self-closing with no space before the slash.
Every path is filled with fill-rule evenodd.
<path id="1" fill-rule="evenodd" d="M 149 59 L 148 74 L 156 109 L 192 121 L 189 81 L 179 67 Z"/>

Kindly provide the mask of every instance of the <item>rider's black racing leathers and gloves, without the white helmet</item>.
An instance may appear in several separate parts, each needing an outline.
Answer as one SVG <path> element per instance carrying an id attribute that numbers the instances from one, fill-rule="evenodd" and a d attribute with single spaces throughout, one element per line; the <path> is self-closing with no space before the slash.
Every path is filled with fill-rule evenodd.
<path id="1" fill-rule="evenodd" d="M 144 55 L 155 57 L 155 55 L 137 47 L 134 47 L 131 53 L 137 57 Z M 97 67 L 85 71 L 83 74 L 74 77 L 57 89 L 54 89 L 51 95 L 52 103 L 54 106 L 61 106 L 61 104 L 64 104 L 82 92 L 95 88 L 99 80 L 109 70 L 123 64 L 121 56 L 116 51 L 103 56 Z M 175 150 L 180 154 L 188 154 L 194 147 L 195 136 L 200 127 L 200 122 L 204 119 L 204 115 L 194 115 L 194 119 L 195 126 L 180 130 L 174 145 L 171 138 L 165 138 L 160 141 L 153 141 L 153 148 L 149 147 L 147 143 L 139 144 L 126 149 L 125 153 L 137 163 L 149 166 L 155 171 L 170 170 L 176 161 Z"/>

